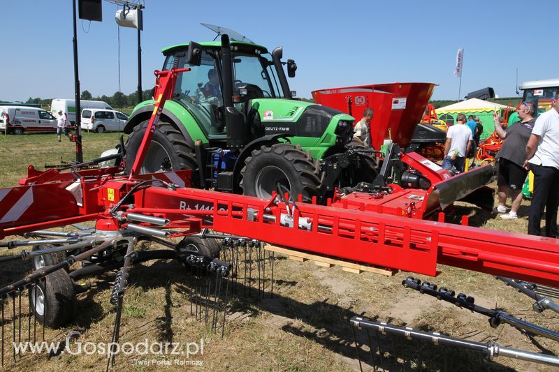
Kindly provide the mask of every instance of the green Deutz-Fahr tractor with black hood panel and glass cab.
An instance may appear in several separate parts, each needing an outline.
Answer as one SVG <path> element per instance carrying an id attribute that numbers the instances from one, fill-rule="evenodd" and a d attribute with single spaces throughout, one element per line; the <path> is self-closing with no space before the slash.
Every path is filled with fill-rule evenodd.
<path id="1" fill-rule="evenodd" d="M 230 31 L 163 54 L 164 70 L 191 70 L 177 77 L 142 172 L 190 168 L 194 187 L 259 198 L 289 191 L 304 201 L 375 179 L 375 156 L 351 142 L 353 117 L 293 98 L 282 47 L 270 54 Z M 295 62 L 286 67 L 295 76 Z M 153 110 L 153 100 L 140 103 L 124 128 L 128 170 Z"/>

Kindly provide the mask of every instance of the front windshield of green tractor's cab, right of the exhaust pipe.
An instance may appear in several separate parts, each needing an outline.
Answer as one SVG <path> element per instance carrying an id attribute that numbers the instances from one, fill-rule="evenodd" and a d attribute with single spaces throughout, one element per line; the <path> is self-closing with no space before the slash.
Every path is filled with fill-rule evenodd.
<path id="1" fill-rule="evenodd" d="M 265 57 L 234 54 L 235 87 L 251 84 L 255 87 L 256 98 L 276 98 L 279 96 L 279 89 L 277 89 L 277 79 L 270 65 L 270 61 Z"/>

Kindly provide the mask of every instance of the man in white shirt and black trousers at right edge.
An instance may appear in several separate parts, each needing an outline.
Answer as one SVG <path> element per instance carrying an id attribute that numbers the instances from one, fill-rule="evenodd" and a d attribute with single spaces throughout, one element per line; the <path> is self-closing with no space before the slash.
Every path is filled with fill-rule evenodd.
<path id="1" fill-rule="evenodd" d="M 524 166 L 534 173 L 534 196 L 528 214 L 528 234 L 542 235 L 540 222 L 546 210 L 546 237 L 557 237 L 559 207 L 559 94 L 551 110 L 539 115 L 526 144 Z"/>

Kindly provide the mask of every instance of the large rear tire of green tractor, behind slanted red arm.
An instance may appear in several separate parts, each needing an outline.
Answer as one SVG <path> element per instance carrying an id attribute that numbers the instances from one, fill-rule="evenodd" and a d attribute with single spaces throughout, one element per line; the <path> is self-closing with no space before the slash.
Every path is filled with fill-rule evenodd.
<path id="1" fill-rule="evenodd" d="M 143 121 L 133 128 L 126 142 L 126 172 L 130 172 L 138 149 L 142 143 L 145 129 L 149 121 Z M 140 173 L 155 173 L 168 170 L 192 170 L 192 184 L 199 185 L 198 164 L 194 150 L 184 140 L 182 133 L 171 124 L 159 122 L 153 134 L 152 143 L 147 150 L 144 164 Z"/>

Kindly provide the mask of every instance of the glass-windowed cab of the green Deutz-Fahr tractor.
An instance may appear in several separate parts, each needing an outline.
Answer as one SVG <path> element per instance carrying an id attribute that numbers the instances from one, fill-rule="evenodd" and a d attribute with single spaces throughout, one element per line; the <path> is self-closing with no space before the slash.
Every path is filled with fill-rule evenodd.
<path id="1" fill-rule="evenodd" d="M 192 60 L 193 53 L 189 53 L 190 45 L 196 49 L 196 60 Z M 278 75 L 283 74 L 281 62 L 278 73 L 273 55 L 265 47 L 231 40 L 230 48 L 232 85 L 229 87 L 224 87 L 224 82 L 227 84 L 228 79 L 224 80 L 222 43 L 191 42 L 164 50 L 164 70 L 185 67 L 191 69 L 179 73 L 173 90 L 173 101 L 187 108 L 210 140 L 226 140 L 226 102 L 231 101 L 244 121 L 247 121 L 251 116 L 254 99 L 291 98 L 287 83 L 284 84 L 286 91 L 279 83 Z M 231 96 L 224 96 L 229 91 Z M 157 91 L 154 96 L 157 96 Z M 255 114 L 253 112 L 252 116 Z"/>

